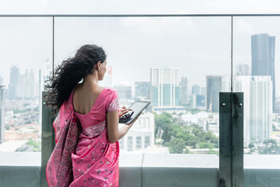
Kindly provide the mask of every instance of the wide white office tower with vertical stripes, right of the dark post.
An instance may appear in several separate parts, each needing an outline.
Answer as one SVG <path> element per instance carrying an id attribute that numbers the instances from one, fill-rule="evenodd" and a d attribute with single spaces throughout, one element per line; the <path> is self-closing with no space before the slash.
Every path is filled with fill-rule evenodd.
<path id="1" fill-rule="evenodd" d="M 244 92 L 244 145 L 270 139 L 272 133 L 270 76 L 233 76 L 232 90 Z M 228 87 L 228 90 L 223 91 L 229 92 L 230 89 Z"/>

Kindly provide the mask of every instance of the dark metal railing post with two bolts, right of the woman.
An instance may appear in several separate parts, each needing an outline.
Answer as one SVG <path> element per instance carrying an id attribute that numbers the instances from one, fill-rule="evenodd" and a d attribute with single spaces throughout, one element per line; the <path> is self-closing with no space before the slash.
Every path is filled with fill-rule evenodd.
<path id="1" fill-rule="evenodd" d="M 219 186 L 244 186 L 243 92 L 220 92 Z"/>

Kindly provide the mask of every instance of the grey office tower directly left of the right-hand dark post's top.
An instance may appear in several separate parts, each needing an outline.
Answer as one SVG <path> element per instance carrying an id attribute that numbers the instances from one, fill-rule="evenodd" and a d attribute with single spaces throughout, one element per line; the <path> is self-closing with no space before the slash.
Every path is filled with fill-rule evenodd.
<path id="1" fill-rule="evenodd" d="M 207 110 L 218 113 L 221 90 L 222 76 L 207 76 Z"/>

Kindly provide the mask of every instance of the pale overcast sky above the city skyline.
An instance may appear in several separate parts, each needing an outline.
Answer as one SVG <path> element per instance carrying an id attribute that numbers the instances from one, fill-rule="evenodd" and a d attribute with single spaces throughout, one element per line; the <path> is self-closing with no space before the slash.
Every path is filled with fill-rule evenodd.
<path id="1" fill-rule="evenodd" d="M 1 14 L 279 13 L 277 1 L 6 1 Z M 55 18 L 55 64 L 86 43 L 102 46 L 113 84 L 150 81 L 151 67 L 176 67 L 179 76 L 206 86 L 207 75 L 230 75 L 230 18 Z M 251 35 L 276 36 L 279 95 L 280 17 L 234 18 L 233 67 L 251 67 Z M 52 60 L 52 18 L 0 18 L 0 76 L 10 67 L 43 69 Z M 38 76 L 36 76 L 38 77 Z M 37 81 L 38 82 L 38 78 Z"/>

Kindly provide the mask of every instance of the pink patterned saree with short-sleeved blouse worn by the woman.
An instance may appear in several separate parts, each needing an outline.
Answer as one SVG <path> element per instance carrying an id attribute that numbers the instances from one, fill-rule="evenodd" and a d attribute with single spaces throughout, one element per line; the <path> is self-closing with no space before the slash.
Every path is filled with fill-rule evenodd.
<path id="1" fill-rule="evenodd" d="M 48 186 L 118 186 L 119 144 L 108 140 L 106 124 L 106 113 L 118 110 L 117 92 L 104 88 L 86 114 L 73 111 L 72 101 L 73 91 L 53 123 Z"/>

